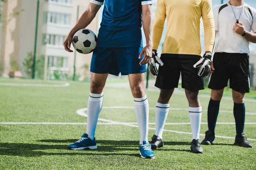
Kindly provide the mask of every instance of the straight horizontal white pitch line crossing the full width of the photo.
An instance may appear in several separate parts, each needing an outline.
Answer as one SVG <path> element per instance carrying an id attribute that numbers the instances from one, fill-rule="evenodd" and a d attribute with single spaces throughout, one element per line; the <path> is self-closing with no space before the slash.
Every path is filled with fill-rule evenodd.
<path id="1" fill-rule="evenodd" d="M 98 122 L 97 125 L 120 125 L 120 124 L 137 125 L 137 122 Z M 73 122 L 0 122 L 3 125 L 87 125 L 87 123 Z M 219 125 L 236 125 L 235 122 L 217 122 Z M 148 125 L 155 125 L 154 122 L 149 122 Z M 190 122 L 165 123 L 165 125 L 190 125 Z M 201 125 L 207 125 L 207 122 L 201 122 Z M 256 122 L 246 122 L 245 125 L 256 125 Z"/>

